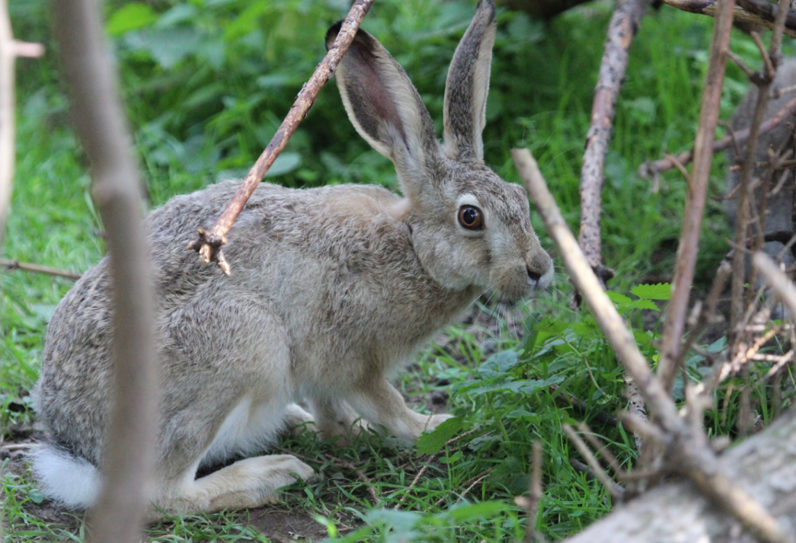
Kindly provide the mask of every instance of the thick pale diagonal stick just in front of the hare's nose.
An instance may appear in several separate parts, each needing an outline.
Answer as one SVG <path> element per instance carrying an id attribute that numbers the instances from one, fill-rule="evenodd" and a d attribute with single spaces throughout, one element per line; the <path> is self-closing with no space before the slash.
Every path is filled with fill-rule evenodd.
<path id="1" fill-rule="evenodd" d="M 583 299 L 606 335 L 617 359 L 638 384 L 646 405 L 654 411 L 655 421 L 660 429 L 650 423 L 639 422 L 630 415 L 622 417 L 622 421 L 633 421 L 632 426 L 644 429 L 646 436 L 657 436 L 657 441 L 665 447 L 664 459 L 669 470 L 692 479 L 705 496 L 732 514 L 755 537 L 770 543 L 794 543 L 759 502 L 733 485 L 719 471 L 707 436 L 704 432 L 694 432 L 679 416 L 676 405 L 669 398 L 661 381 L 655 377 L 646 359 L 638 351 L 633 334 L 626 328 L 614 304 L 603 291 L 597 276 L 583 256 L 583 251 L 564 222 L 537 162 L 528 149 L 512 149 L 511 154 L 531 200 L 544 220 L 548 234 L 564 258 L 564 265 L 572 281 L 583 294 Z"/>

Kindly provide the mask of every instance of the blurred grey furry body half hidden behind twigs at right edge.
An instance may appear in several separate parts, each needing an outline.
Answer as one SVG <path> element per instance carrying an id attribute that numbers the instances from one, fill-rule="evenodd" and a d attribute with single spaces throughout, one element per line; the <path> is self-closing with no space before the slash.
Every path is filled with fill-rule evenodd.
<path id="1" fill-rule="evenodd" d="M 796 85 L 796 59 L 786 59 L 782 62 L 777 70 L 777 76 L 772 84 L 772 89 L 790 87 Z M 755 114 L 755 103 L 757 102 L 757 87 L 751 86 L 748 94 L 743 98 L 736 111 L 732 114 L 732 130 L 743 130 L 749 128 L 751 125 L 751 118 Z M 776 99 L 769 99 L 766 113 L 763 118 L 771 118 L 777 111 L 782 109 L 790 99 L 793 98 L 792 94 L 784 94 Z M 793 136 L 794 136 L 794 121 L 796 118 L 791 117 L 786 119 L 785 122 L 780 123 L 771 132 L 761 134 L 758 140 L 757 149 L 755 149 L 755 161 L 759 165 L 755 166 L 753 176 L 757 179 L 762 179 L 766 175 L 766 166 L 768 162 L 768 150 L 774 149 L 775 151 L 793 149 Z M 784 146 L 784 147 L 783 147 Z M 729 165 L 736 165 L 736 152 L 730 149 L 727 152 Z M 793 158 L 793 156 L 791 156 Z M 763 165 L 761 165 L 763 164 Z M 784 177 L 781 177 L 784 176 Z M 767 199 L 765 226 L 763 233 L 766 235 L 767 243 L 763 249 L 773 257 L 780 257 L 785 243 L 788 242 L 790 237 L 794 235 L 794 176 L 793 170 L 787 169 L 775 174 L 772 180 L 772 187 L 775 188 L 776 184 L 782 182 L 782 186 L 778 188 L 775 194 Z M 735 225 L 736 214 L 738 209 L 738 199 L 735 197 L 737 186 L 740 183 L 740 173 L 737 169 L 732 169 L 728 172 L 727 176 L 727 211 L 730 215 L 730 221 Z M 763 197 L 761 189 L 755 191 L 755 202 L 759 202 Z M 790 251 L 782 254 L 782 261 L 786 266 L 791 266 L 794 262 L 793 255 Z"/>

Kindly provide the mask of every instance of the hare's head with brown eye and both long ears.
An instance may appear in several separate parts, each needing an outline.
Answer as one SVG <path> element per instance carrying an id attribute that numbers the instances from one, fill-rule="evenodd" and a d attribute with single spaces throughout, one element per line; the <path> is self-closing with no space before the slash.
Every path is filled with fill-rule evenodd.
<path id="1" fill-rule="evenodd" d="M 369 33 L 357 33 L 336 79 L 357 132 L 396 165 L 425 269 L 447 288 L 494 287 L 513 300 L 549 285 L 552 261 L 531 227 L 525 190 L 483 162 L 495 28 L 494 4 L 481 0 L 448 71 L 442 145 L 403 68 Z M 326 34 L 327 47 L 339 30 Z"/>

